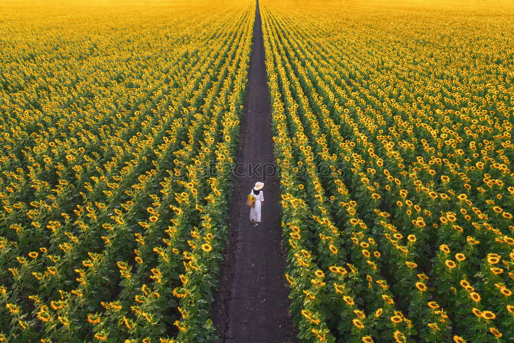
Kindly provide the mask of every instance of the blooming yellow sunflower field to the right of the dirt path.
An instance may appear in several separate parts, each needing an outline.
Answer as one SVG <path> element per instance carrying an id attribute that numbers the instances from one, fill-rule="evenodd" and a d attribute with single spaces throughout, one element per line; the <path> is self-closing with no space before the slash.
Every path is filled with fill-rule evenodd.
<path id="1" fill-rule="evenodd" d="M 260 7 L 301 339 L 513 341 L 512 3 Z"/>

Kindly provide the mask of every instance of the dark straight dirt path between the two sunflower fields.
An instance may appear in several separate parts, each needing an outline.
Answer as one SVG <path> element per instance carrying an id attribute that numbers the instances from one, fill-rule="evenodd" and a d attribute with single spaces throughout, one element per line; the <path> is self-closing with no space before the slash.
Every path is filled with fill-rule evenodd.
<path id="1" fill-rule="evenodd" d="M 255 11 L 240 142 L 237 163 L 274 162 L 259 2 Z M 228 241 L 220 287 L 214 294 L 213 322 L 220 342 L 296 342 L 296 330 L 289 314 L 289 290 L 284 278 L 280 187 L 276 177 L 266 178 L 262 223 L 253 227 L 245 201 L 257 181 L 263 181 L 262 177 L 234 177 L 228 212 Z"/>

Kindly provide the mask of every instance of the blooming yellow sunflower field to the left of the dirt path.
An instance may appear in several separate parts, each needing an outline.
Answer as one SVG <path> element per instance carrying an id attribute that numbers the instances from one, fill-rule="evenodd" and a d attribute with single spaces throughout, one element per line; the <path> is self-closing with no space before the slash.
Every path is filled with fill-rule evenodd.
<path id="1" fill-rule="evenodd" d="M 0 2 L 0 341 L 212 336 L 254 10 Z"/>

